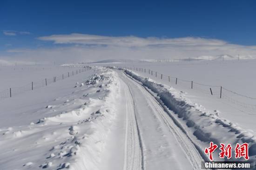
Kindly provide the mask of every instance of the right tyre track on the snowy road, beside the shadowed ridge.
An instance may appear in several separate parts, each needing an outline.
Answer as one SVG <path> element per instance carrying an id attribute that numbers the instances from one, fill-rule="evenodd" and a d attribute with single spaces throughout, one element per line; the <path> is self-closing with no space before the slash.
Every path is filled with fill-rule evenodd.
<path id="1" fill-rule="evenodd" d="M 125 73 L 124 73 L 125 74 Z M 127 74 L 125 74 L 127 75 Z M 141 90 L 141 92 L 145 95 L 146 100 L 148 101 L 149 106 L 155 111 L 157 115 L 159 115 L 164 124 L 168 127 L 169 131 L 175 135 L 176 140 L 179 142 L 182 147 L 184 153 L 190 161 L 191 166 L 195 170 L 201 169 L 201 162 L 203 161 L 200 153 L 195 148 L 195 145 L 190 140 L 190 138 L 179 128 L 176 126 L 172 118 L 165 112 L 165 109 L 162 107 L 161 103 L 157 101 L 155 96 L 151 94 L 147 88 L 141 85 L 140 82 L 131 78 L 127 75 L 127 78 L 130 78 L 135 82 L 134 84 Z"/>

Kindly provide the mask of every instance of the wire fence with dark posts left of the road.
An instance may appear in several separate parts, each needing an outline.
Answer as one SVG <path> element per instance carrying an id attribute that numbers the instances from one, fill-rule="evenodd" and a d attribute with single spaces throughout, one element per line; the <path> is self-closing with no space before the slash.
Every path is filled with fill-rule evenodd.
<path id="1" fill-rule="evenodd" d="M 91 70 L 92 67 L 90 66 L 84 66 L 82 67 L 81 69 L 79 70 L 74 70 L 74 71 L 71 71 L 71 72 L 67 72 L 65 74 L 62 74 L 62 75 L 59 75 L 59 76 L 53 76 L 52 78 L 44 78 L 40 81 L 37 81 L 37 82 L 31 82 L 27 85 L 23 85 L 21 87 L 10 87 L 9 89 L 6 89 L 6 90 L 3 90 L 0 92 L 0 99 L 4 99 L 4 98 L 12 98 L 13 96 L 16 96 L 20 93 L 24 93 L 24 92 L 27 92 L 27 91 L 33 91 L 35 89 L 38 89 L 40 87 L 44 87 L 44 86 L 47 86 L 51 83 L 54 83 L 56 81 L 59 81 L 59 80 L 63 80 L 65 78 L 69 78 L 71 76 L 74 76 L 76 74 L 79 74 L 81 72 L 86 72 L 87 70 Z"/>

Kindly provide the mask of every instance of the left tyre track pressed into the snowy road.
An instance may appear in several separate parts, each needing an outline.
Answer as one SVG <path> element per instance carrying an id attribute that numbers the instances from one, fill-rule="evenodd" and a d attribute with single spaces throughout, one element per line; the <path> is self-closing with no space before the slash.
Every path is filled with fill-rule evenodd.
<path id="1" fill-rule="evenodd" d="M 128 85 L 125 86 L 126 98 L 126 144 L 124 170 L 143 170 L 143 150 L 140 132 L 135 116 L 135 106 L 131 91 Z"/>

